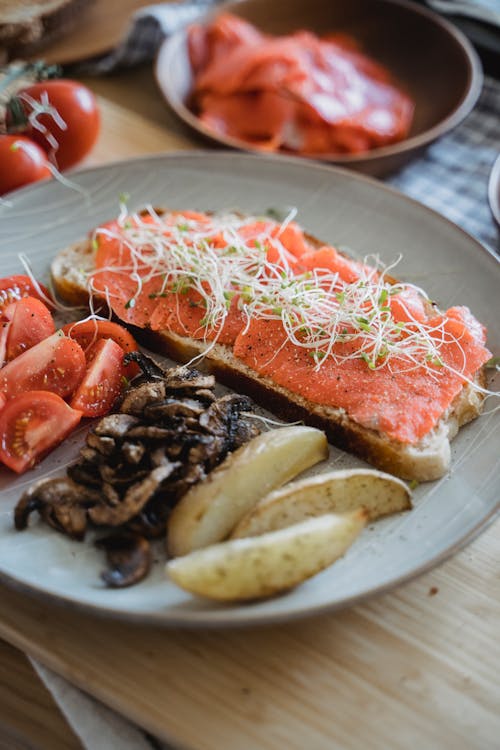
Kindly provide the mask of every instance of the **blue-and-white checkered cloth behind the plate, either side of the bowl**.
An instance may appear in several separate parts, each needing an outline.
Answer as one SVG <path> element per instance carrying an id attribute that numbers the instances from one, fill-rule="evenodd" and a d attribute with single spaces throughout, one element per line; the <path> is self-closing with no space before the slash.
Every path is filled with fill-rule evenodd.
<path id="1" fill-rule="evenodd" d="M 105 57 L 85 63 L 85 72 L 105 74 L 152 60 L 167 36 L 202 17 L 218 1 L 191 0 L 143 8 L 132 18 L 123 42 Z M 487 186 L 499 151 L 500 82 L 486 78 L 479 102 L 467 119 L 387 182 L 498 250 Z"/>

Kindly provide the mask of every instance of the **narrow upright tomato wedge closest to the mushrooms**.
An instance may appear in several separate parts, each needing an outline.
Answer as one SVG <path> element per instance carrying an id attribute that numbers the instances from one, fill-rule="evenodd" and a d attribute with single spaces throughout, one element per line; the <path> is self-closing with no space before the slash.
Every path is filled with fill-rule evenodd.
<path id="1" fill-rule="evenodd" d="M 85 417 L 101 417 L 111 409 L 123 388 L 123 349 L 113 339 L 101 339 L 88 356 L 87 372 L 71 406 Z"/>

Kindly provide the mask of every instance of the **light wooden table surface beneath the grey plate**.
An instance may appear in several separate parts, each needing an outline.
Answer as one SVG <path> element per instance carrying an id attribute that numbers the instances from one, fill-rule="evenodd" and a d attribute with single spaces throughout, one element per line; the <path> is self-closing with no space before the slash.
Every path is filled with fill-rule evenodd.
<path id="1" fill-rule="evenodd" d="M 148 68 L 86 82 L 103 97 L 90 164 L 194 145 Z M 0 596 L 1 638 L 191 750 L 500 748 L 500 521 L 393 593 L 252 631 L 139 627 Z M 1 643 L 0 674 L 0 750 L 78 747 Z"/>

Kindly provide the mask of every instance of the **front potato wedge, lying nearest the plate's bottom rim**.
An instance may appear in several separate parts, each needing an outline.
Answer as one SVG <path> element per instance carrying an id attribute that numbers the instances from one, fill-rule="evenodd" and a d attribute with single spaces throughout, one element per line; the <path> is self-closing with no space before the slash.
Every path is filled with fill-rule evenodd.
<path id="1" fill-rule="evenodd" d="M 250 539 L 234 539 L 170 560 L 169 578 L 192 594 L 219 601 L 272 596 L 296 586 L 346 552 L 366 513 L 332 513 Z"/>

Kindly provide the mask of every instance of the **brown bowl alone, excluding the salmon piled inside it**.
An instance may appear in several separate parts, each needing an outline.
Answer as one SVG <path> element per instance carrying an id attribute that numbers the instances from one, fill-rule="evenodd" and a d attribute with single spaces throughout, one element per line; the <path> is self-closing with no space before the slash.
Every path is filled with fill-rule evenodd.
<path id="1" fill-rule="evenodd" d="M 415 118 L 404 141 L 363 154 L 324 154 L 317 157 L 321 161 L 374 176 L 393 172 L 458 125 L 481 91 L 481 63 L 463 34 L 431 11 L 404 0 L 243 0 L 224 5 L 223 11 L 273 34 L 297 29 L 350 34 L 363 51 L 387 66 L 414 99 Z M 161 47 L 156 78 L 168 104 L 190 128 L 219 146 L 258 150 L 213 133 L 186 106 L 193 85 L 186 31 Z"/>

